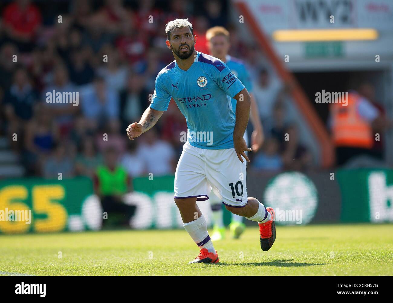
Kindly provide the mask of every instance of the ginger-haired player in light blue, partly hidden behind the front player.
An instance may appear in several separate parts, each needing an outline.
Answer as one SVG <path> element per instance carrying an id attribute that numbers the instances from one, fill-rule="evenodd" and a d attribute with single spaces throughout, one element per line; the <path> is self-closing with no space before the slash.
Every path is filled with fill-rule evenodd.
<path id="1" fill-rule="evenodd" d="M 227 31 L 222 26 L 215 26 L 208 29 L 206 31 L 206 42 L 210 55 L 226 63 L 231 72 L 239 78 L 239 80 L 246 87 L 247 91 L 250 93 L 250 119 L 254 129 L 251 135 L 251 149 L 253 152 L 257 152 L 263 143 L 263 129 L 261 119 L 259 118 L 258 106 L 252 94 L 252 84 L 250 81 L 250 75 L 247 72 L 247 68 L 242 61 L 228 55 L 229 49 L 231 47 L 229 31 Z M 232 98 L 231 103 L 233 111 L 236 112 L 236 100 Z M 248 146 L 247 130 L 244 132 L 244 140 Z M 209 196 L 209 202 L 211 205 L 214 223 L 211 240 L 218 241 L 224 239 L 225 237 L 225 226 L 222 219 L 222 201 L 212 191 Z M 235 213 L 232 213 L 231 217 L 231 223 L 229 224 L 230 232 L 234 239 L 238 239 L 246 229 L 246 225 L 243 223 L 243 217 L 236 215 Z"/>

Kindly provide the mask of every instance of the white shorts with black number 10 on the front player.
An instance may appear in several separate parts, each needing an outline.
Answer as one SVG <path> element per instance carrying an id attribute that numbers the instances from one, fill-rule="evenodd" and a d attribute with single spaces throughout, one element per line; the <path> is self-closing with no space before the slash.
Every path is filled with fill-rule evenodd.
<path id="1" fill-rule="evenodd" d="M 205 201 L 212 189 L 223 204 L 246 206 L 246 160 L 240 162 L 233 148 L 201 149 L 187 141 L 176 167 L 174 198 Z"/>

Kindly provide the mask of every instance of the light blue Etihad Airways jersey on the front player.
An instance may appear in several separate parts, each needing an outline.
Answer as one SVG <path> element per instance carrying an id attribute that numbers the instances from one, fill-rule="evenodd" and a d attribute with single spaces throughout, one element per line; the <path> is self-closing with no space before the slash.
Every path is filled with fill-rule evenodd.
<path id="1" fill-rule="evenodd" d="M 150 107 L 167 110 L 173 97 L 187 121 L 192 146 L 229 149 L 233 148 L 235 128 L 231 98 L 243 89 L 224 62 L 197 51 L 187 71 L 175 60 L 158 73 Z"/>

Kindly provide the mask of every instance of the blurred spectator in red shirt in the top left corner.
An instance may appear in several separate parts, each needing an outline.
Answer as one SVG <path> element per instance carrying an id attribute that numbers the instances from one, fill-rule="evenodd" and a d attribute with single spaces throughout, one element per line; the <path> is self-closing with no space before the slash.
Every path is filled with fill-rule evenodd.
<path id="1" fill-rule="evenodd" d="M 30 0 L 16 0 L 3 13 L 4 30 L 22 52 L 31 51 L 42 23 L 41 13 Z"/>

